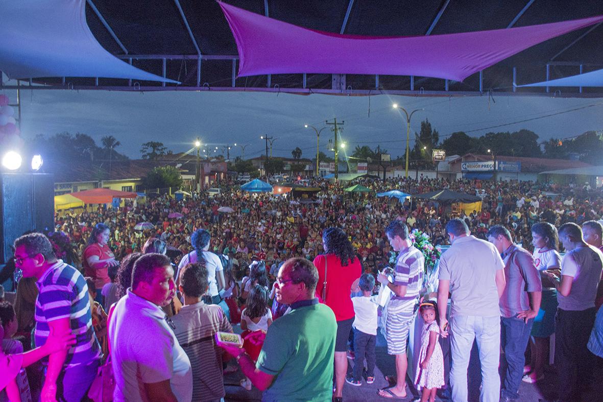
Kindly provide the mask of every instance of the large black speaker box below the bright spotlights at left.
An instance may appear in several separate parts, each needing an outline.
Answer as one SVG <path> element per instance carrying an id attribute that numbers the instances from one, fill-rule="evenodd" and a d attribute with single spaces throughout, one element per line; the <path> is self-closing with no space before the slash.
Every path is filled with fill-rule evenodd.
<path id="1" fill-rule="evenodd" d="M 54 228 L 54 175 L 0 173 L 0 264 L 13 255 L 13 241 L 27 231 Z"/>

